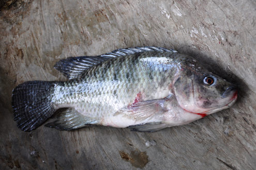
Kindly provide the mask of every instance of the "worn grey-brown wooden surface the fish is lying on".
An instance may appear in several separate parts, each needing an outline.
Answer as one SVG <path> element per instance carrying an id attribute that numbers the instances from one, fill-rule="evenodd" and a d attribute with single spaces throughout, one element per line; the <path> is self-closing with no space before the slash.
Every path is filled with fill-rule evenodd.
<path id="1" fill-rule="evenodd" d="M 254 169 L 255 16 L 253 0 L 27 0 L 2 8 L 0 169 Z M 235 106 L 154 133 L 17 128 L 11 108 L 17 84 L 65 80 L 53 65 L 69 56 L 149 45 L 192 55 L 235 82 Z M 148 140 L 155 142 L 148 147 Z"/>

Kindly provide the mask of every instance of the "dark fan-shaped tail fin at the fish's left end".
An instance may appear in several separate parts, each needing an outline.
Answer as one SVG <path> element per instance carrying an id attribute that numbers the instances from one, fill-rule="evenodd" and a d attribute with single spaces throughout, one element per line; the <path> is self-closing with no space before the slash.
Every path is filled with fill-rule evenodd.
<path id="1" fill-rule="evenodd" d="M 53 81 L 27 81 L 13 89 L 12 108 L 19 128 L 31 131 L 52 116 L 54 85 Z"/>

